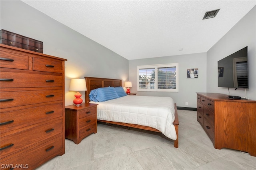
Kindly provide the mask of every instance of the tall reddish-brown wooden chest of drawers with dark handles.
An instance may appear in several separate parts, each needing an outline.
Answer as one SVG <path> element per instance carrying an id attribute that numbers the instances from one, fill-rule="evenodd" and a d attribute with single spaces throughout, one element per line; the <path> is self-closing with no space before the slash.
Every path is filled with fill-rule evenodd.
<path id="1" fill-rule="evenodd" d="M 0 44 L 1 169 L 35 169 L 65 153 L 64 61 Z"/>

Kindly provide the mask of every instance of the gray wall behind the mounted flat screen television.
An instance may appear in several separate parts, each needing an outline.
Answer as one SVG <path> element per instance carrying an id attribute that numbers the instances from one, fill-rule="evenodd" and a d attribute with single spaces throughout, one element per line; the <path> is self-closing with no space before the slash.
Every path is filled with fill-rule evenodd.
<path id="1" fill-rule="evenodd" d="M 228 94 L 228 88 L 218 87 L 217 62 L 248 46 L 249 89 L 247 97 L 256 100 L 256 7 L 252 8 L 225 36 L 207 52 L 207 92 Z M 245 96 L 244 89 L 230 88 L 230 95 Z"/>

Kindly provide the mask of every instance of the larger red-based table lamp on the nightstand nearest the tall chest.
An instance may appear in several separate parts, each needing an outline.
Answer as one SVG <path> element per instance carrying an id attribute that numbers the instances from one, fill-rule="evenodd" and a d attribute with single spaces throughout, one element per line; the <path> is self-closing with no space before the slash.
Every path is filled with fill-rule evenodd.
<path id="1" fill-rule="evenodd" d="M 82 96 L 82 94 L 80 94 L 78 91 L 86 91 L 87 90 L 85 79 L 79 79 L 79 78 L 71 79 L 69 90 L 77 91 L 77 93 L 75 94 L 76 98 L 73 100 L 73 103 L 76 106 L 80 106 L 83 102 L 83 99 L 80 98 Z"/>

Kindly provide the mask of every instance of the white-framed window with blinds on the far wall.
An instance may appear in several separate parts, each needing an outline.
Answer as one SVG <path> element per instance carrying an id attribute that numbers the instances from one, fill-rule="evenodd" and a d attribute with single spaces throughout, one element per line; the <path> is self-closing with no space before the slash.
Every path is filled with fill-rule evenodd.
<path id="1" fill-rule="evenodd" d="M 178 63 L 137 67 L 137 90 L 178 92 Z"/>

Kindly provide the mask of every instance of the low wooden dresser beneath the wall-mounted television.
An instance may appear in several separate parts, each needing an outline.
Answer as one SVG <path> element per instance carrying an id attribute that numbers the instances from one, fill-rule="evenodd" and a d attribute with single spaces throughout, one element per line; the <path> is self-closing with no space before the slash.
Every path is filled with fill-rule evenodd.
<path id="1" fill-rule="evenodd" d="M 256 156 L 256 101 L 234 100 L 220 93 L 197 93 L 197 120 L 214 148 Z"/>

